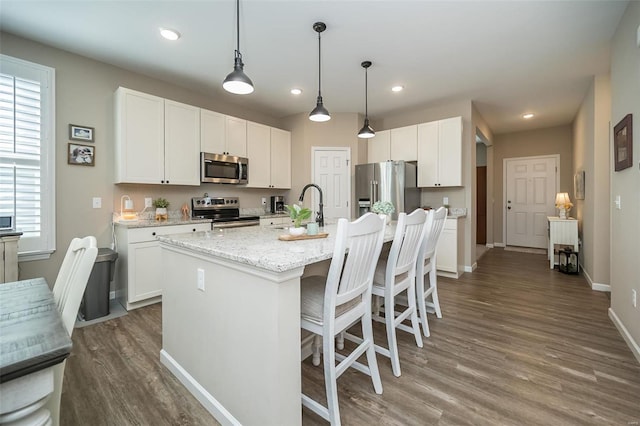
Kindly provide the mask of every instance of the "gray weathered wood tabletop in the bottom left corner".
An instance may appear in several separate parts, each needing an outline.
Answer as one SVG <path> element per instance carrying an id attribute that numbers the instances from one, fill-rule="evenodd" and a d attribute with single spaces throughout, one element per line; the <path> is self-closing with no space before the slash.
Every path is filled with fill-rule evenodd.
<path id="1" fill-rule="evenodd" d="M 0 383 L 58 364 L 70 352 L 44 278 L 0 284 Z"/>

